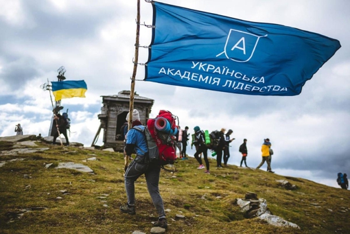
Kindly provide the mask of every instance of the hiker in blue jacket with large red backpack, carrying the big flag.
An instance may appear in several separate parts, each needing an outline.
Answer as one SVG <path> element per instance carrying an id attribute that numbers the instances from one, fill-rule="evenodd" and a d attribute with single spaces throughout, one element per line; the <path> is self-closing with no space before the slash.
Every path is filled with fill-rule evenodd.
<path id="1" fill-rule="evenodd" d="M 159 111 L 156 119 L 148 119 L 142 126 L 139 112 L 132 111 L 132 128 L 126 134 L 124 154 L 130 157 L 135 150 L 136 157 L 126 168 L 124 174 L 126 196 L 128 202 L 120 207 L 120 211 L 135 215 L 135 181 L 145 175 L 148 193 L 158 213 L 158 220 L 153 225 L 167 229 L 163 198 L 159 192 L 161 166 L 174 163 L 176 160 L 174 135 L 178 129 L 175 117 L 167 110 Z"/>

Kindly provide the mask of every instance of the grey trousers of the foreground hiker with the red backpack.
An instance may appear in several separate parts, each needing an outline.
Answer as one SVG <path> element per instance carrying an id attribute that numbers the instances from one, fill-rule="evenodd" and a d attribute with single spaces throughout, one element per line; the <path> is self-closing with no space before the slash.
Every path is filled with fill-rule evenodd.
<path id="1" fill-rule="evenodd" d="M 148 193 L 150 194 L 154 207 L 158 212 L 158 218 L 165 218 L 163 198 L 159 193 L 159 176 L 161 174 L 161 166 L 155 164 L 141 164 L 131 161 L 128 169 L 126 169 L 124 180 L 126 196 L 128 204 L 135 205 L 135 181 L 141 175 L 145 174 Z"/>

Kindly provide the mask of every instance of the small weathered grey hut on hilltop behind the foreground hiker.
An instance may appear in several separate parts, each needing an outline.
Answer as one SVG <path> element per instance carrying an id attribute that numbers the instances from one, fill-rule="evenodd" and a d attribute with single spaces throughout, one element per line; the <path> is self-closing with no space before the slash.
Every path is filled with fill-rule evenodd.
<path id="1" fill-rule="evenodd" d="M 121 141 L 121 126 L 126 122 L 126 115 L 129 113 L 130 91 L 120 91 L 118 95 L 107 95 L 102 97 L 101 114 L 98 115 L 101 124 L 97 130 L 91 146 L 95 145 L 101 129 L 104 129 L 104 148 L 114 148 L 122 151 L 123 141 Z M 134 95 L 134 108 L 139 110 L 140 120 L 145 124 L 148 120 L 154 100 L 148 97 L 141 97 L 137 93 Z"/>

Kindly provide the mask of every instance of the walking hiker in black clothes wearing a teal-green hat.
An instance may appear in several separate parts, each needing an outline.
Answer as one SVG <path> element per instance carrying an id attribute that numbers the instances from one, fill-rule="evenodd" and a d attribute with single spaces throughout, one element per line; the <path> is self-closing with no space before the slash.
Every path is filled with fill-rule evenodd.
<path id="1" fill-rule="evenodd" d="M 198 126 L 194 127 L 195 139 L 194 145 L 196 146 L 196 153 L 194 153 L 194 157 L 197 159 L 199 163 L 199 167 L 197 169 L 204 169 L 205 166 L 202 164 L 202 159 L 199 157 L 199 154 L 203 153 L 205 159 L 205 165 L 207 170 L 205 170 L 206 174 L 210 174 L 209 172 L 209 160 L 208 160 L 208 148 L 205 144 L 205 132 L 200 130 Z"/>

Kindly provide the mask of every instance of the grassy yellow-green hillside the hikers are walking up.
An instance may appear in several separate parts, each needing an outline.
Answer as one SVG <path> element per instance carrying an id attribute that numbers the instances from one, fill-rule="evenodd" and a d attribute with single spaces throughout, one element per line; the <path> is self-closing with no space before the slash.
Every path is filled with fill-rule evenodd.
<path id="1" fill-rule="evenodd" d="M 126 202 L 122 154 L 40 143 L 50 150 L 18 156 L 0 154 L 0 233 L 150 233 L 156 211 L 141 177 L 136 184 L 137 215 L 119 211 Z M 0 142 L 0 150 L 12 143 Z M 92 156 L 97 161 L 86 161 Z M 83 163 L 94 174 L 45 167 L 47 163 Z M 160 190 L 167 209 L 167 233 L 350 233 L 349 191 L 229 165 L 211 174 L 196 169 L 195 159 L 178 161 L 172 176 L 161 172 Z M 297 186 L 288 191 L 276 180 Z M 245 219 L 235 198 L 253 191 L 274 215 L 301 229 Z M 58 199 L 61 197 L 62 199 Z M 185 215 L 185 219 L 176 218 Z"/>

